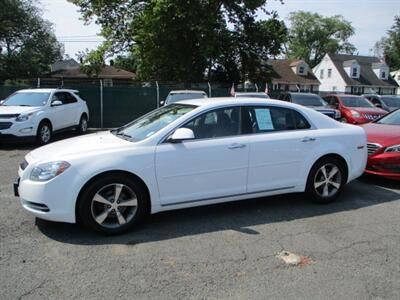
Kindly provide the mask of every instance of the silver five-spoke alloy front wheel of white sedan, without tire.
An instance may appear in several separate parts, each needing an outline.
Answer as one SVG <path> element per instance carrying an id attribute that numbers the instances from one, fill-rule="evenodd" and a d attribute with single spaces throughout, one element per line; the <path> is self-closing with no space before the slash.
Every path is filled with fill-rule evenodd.
<path id="1" fill-rule="evenodd" d="M 127 185 L 113 183 L 101 188 L 93 197 L 91 213 L 102 227 L 118 228 L 129 223 L 135 216 L 138 200 Z"/>

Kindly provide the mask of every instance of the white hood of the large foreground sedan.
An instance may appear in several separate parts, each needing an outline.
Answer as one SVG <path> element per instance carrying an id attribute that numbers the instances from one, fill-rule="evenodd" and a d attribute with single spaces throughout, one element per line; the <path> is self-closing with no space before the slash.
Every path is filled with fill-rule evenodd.
<path id="1" fill-rule="evenodd" d="M 30 152 L 29 161 L 55 161 L 70 157 L 115 151 L 118 148 L 132 147 L 133 143 L 116 137 L 109 131 L 55 142 Z"/>

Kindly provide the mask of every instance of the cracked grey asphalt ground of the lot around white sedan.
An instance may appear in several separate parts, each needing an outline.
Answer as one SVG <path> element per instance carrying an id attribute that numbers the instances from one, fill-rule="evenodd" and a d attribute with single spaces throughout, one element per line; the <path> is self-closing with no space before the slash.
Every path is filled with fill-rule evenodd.
<path id="1" fill-rule="evenodd" d="M 160 213 L 103 237 L 22 210 L 12 182 L 32 148 L 0 145 L 1 299 L 400 299 L 399 183 L 361 178 L 330 205 L 285 195 Z"/>

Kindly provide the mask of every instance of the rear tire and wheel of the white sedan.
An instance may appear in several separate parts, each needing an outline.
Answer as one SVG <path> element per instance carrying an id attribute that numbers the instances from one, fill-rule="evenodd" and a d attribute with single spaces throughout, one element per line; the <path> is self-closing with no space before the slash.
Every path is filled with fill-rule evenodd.
<path id="1" fill-rule="evenodd" d="M 345 168 L 338 159 L 322 158 L 311 168 L 306 194 L 317 203 L 333 202 L 342 192 L 345 180 Z"/>

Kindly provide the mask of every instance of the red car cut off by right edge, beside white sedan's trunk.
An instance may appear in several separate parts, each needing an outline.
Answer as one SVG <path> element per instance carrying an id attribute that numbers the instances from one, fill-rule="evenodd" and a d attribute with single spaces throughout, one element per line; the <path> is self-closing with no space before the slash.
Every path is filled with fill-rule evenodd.
<path id="1" fill-rule="evenodd" d="M 400 109 L 362 127 L 368 137 L 365 173 L 400 180 Z"/>

